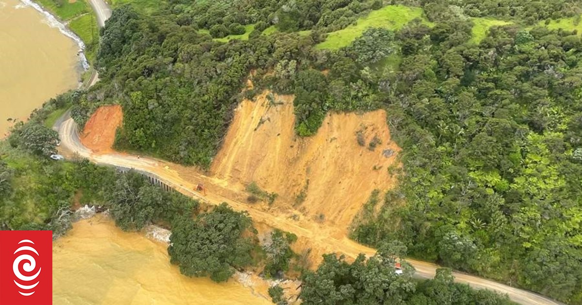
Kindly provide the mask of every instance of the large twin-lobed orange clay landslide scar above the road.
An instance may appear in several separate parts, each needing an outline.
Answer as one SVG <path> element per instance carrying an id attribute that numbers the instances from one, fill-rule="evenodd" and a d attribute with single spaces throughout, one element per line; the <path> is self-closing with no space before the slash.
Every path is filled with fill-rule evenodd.
<path id="1" fill-rule="evenodd" d="M 374 189 L 385 191 L 395 182 L 388 167 L 400 149 L 390 139 L 385 111 L 328 114 L 316 135 L 300 138 L 293 128 L 293 97 L 274 95 L 282 105 L 269 105 L 267 95 L 237 107 L 212 173 L 230 186 L 255 181 L 279 194 L 275 206 L 294 206 L 347 229 Z M 357 141 L 359 131 L 365 146 Z M 381 144 L 370 150 L 374 136 Z M 384 156 L 385 149 L 394 155 Z M 297 196 L 304 189 L 301 203 Z"/>

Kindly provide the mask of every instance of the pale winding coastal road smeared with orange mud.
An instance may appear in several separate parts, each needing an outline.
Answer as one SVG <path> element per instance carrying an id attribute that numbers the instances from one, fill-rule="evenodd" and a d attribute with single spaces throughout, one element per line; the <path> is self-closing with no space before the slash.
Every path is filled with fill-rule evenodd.
<path id="1" fill-rule="evenodd" d="M 111 9 L 107 3 L 102 0 L 89 0 L 91 6 L 97 14 L 98 24 L 102 27 L 105 20 L 111 16 Z M 93 85 L 98 78 L 93 78 L 90 82 Z M 61 137 L 61 149 L 68 151 L 79 157 L 84 157 L 91 162 L 98 164 L 108 164 L 112 166 L 135 168 L 136 170 L 145 171 L 152 176 L 159 178 L 165 184 L 172 186 L 177 191 L 184 195 L 194 197 L 210 204 L 220 204 L 222 202 L 228 203 L 233 209 L 238 211 L 248 211 L 249 216 L 253 218 L 256 223 L 268 225 L 272 228 L 280 228 L 288 232 L 292 232 L 301 239 L 310 241 L 311 245 L 317 246 L 327 253 L 342 253 L 347 257 L 355 258 L 359 253 L 364 253 L 367 256 L 375 254 L 375 250 L 360 245 L 347 238 L 345 234 L 339 234 L 338 230 L 333 228 L 326 228 L 322 224 L 314 223 L 310 220 L 294 220 L 292 215 L 275 215 L 268 211 L 260 210 L 249 204 L 238 202 L 218 193 L 208 192 L 206 196 L 202 197 L 197 192 L 194 192 L 196 182 L 192 179 L 185 179 L 180 175 L 179 166 L 176 164 L 164 162 L 162 160 L 150 159 L 147 157 L 139 157 L 120 153 L 96 154 L 87 149 L 80 141 L 77 124 L 70 118 L 69 112 L 63 114 L 63 117 L 55 123 L 56 130 Z M 178 168 L 178 170 L 172 169 Z M 212 177 L 205 177 L 202 174 L 197 174 L 196 181 L 205 181 L 212 184 Z M 223 188 L 221 185 L 213 185 L 213 188 Z M 225 193 L 225 192 L 222 192 Z M 228 192 L 226 192 L 228 193 Z M 416 277 L 419 278 L 434 278 L 438 265 L 427 263 L 424 261 L 407 260 L 416 269 Z M 499 293 L 505 293 L 511 300 L 520 304 L 528 305 L 562 305 L 563 303 L 549 299 L 548 297 L 538 295 L 537 293 L 529 292 L 527 290 L 517 289 L 508 285 L 503 285 L 498 282 L 489 281 L 473 275 L 467 275 L 460 272 L 453 272 L 455 281 L 469 284 L 477 289 L 489 289 Z"/>

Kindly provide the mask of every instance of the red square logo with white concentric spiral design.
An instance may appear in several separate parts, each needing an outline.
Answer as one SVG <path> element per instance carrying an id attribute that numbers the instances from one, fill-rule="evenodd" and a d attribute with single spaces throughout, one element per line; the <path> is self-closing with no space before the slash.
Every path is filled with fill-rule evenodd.
<path id="1" fill-rule="evenodd" d="M 0 231 L 0 305 L 52 304 L 52 231 Z"/>

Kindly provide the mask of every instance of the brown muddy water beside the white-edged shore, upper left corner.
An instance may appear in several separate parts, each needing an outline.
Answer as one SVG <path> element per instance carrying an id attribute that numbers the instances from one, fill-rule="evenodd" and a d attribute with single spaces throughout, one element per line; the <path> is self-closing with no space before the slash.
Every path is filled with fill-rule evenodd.
<path id="1" fill-rule="evenodd" d="M 26 119 L 49 98 L 77 87 L 79 47 L 48 23 L 18 0 L 0 0 L 0 138 L 6 119 Z"/>

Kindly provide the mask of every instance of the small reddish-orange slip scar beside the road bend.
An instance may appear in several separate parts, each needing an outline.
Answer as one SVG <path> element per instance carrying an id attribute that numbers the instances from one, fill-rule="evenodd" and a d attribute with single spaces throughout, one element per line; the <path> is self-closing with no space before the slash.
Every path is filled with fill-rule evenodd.
<path id="1" fill-rule="evenodd" d="M 115 131 L 122 120 L 123 112 L 120 105 L 99 107 L 85 124 L 81 143 L 96 153 L 112 152 Z"/>

